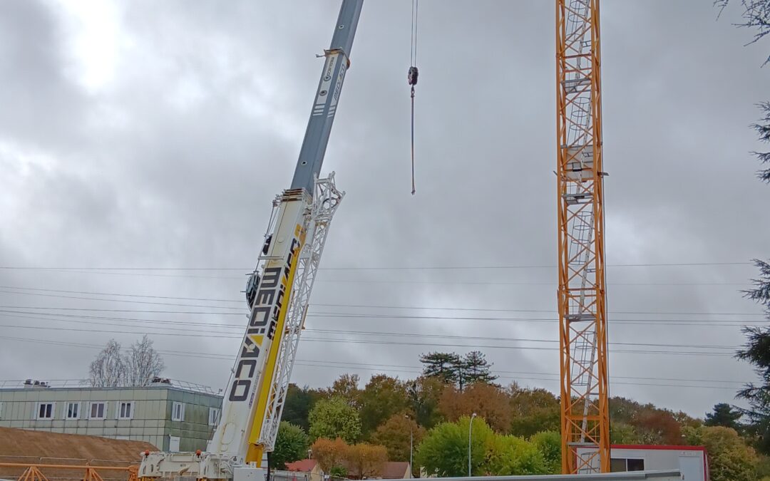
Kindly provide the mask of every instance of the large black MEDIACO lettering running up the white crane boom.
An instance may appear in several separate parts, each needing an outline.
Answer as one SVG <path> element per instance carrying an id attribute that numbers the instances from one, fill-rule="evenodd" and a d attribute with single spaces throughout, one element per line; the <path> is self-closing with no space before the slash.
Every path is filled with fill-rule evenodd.
<path id="1" fill-rule="evenodd" d="M 249 394 L 256 382 L 256 374 L 263 354 L 265 337 L 273 341 L 276 335 L 278 317 L 282 311 L 283 300 L 286 298 L 289 286 L 291 268 L 299 255 L 300 239 L 293 237 L 291 249 L 286 256 L 283 266 L 266 266 L 262 281 L 259 282 L 259 290 L 254 299 L 253 309 L 249 317 L 249 327 L 243 338 L 241 351 L 235 369 L 235 379 L 230 386 L 229 400 L 242 402 L 249 399 Z M 269 348 L 268 348 L 269 349 Z M 260 369 L 261 371 L 261 369 Z"/>

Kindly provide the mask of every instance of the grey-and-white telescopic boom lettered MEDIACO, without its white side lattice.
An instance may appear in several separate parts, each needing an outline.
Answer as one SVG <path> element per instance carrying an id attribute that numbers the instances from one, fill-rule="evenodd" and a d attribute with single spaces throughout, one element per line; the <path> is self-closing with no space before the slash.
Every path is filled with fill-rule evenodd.
<path id="1" fill-rule="evenodd" d="M 237 463 L 260 465 L 272 443 L 260 442 L 266 409 L 276 376 L 284 336 L 286 312 L 293 295 L 294 274 L 305 243 L 307 218 L 316 190 L 326 145 L 340 99 L 350 48 L 363 0 L 343 0 L 323 65 L 310 120 L 291 188 L 278 197 L 275 228 L 269 239 L 261 281 L 251 306 L 249 325 L 239 348 L 223 400 L 222 417 L 211 451 L 227 454 Z M 274 441 L 274 440 L 273 440 Z"/>

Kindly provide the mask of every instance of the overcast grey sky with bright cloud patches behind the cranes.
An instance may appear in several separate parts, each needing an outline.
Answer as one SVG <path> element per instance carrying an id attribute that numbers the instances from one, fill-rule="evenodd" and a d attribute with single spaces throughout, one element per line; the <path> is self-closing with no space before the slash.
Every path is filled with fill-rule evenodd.
<path id="1" fill-rule="evenodd" d="M 0 379 L 78 379 L 147 332 L 166 376 L 223 387 L 339 3 L 0 2 Z M 363 7 L 293 380 L 480 349 L 555 391 L 554 2 L 420 2 L 414 196 L 410 8 Z M 753 379 L 731 355 L 762 320 L 739 290 L 770 256 L 748 129 L 770 45 L 744 46 L 738 5 L 601 14 L 611 394 L 703 416 Z"/>

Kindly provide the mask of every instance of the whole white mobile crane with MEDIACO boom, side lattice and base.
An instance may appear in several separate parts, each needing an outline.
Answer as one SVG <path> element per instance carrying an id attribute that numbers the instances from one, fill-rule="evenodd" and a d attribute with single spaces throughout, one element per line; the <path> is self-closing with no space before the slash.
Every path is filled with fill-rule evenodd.
<path id="1" fill-rule="evenodd" d="M 343 192 L 319 179 L 363 0 L 343 0 L 290 189 L 273 201 L 262 255 L 246 285 L 249 323 L 205 453 L 145 453 L 139 477 L 260 481 L 273 450 L 286 389 L 326 234 Z"/>

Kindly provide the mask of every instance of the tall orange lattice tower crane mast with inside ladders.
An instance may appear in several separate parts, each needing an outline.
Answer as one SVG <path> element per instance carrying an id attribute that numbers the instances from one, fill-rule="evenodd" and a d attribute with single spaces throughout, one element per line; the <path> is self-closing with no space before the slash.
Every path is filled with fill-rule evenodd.
<path id="1" fill-rule="evenodd" d="M 599 0 L 556 0 L 561 466 L 610 470 Z"/>

